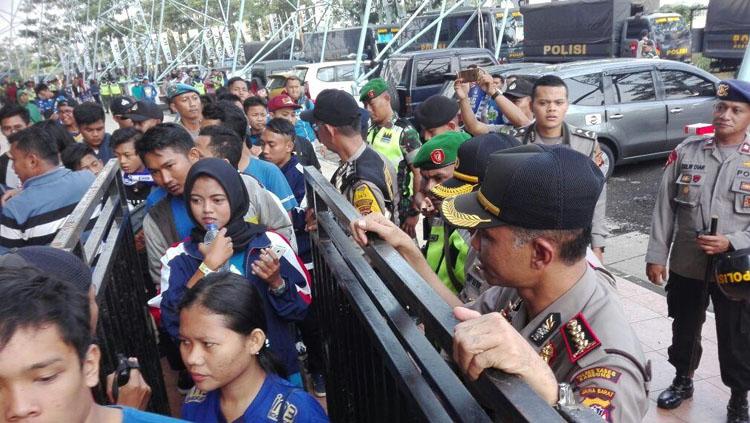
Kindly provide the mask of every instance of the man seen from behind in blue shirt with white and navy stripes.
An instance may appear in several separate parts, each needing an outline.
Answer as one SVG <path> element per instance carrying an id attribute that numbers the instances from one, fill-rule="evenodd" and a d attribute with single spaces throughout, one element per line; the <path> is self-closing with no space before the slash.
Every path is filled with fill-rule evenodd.
<path id="1" fill-rule="evenodd" d="M 37 126 L 16 132 L 8 141 L 23 190 L 3 207 L 0 249 L 47 245 L 94 182 L 94 174 L 61 167 L 55 140 Z"/>

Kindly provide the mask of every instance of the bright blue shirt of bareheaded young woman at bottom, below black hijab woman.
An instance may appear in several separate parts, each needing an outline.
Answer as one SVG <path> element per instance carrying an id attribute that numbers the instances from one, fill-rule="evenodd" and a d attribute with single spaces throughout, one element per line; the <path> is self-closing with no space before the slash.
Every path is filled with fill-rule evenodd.
<path id="1" fill-rule="evenodd" d="M 181 416 L 183 419 L 201 423 L 224 423 L 221 414 L 219 390 L 208 393 L 193 388 L 185 397 Z M 258 395 L 247 407 L 237 422 L 328 422 L 328 416 L 318 401 L 286 380 L 267 373 Z"/>

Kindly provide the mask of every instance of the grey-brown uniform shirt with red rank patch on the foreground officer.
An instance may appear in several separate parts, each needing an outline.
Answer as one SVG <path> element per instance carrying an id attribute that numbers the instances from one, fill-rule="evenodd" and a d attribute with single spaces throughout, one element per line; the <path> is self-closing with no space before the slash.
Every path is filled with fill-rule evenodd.
<path id="1" fill-rule="evenodd" d="M 513 288 L 493 286 L 467 307 L 503 314 L 558 382 L 571 384 L 579 404 L 606 421 L 639 422 L 648 409 L 650 371 L 613 284 L 606 272 L 587 266 L 568 292 L 530 320 Z"/>

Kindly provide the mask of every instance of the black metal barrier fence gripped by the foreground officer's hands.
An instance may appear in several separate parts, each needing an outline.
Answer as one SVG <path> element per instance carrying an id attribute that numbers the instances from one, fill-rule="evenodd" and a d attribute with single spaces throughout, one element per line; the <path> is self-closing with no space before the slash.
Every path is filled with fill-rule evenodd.
<path id="1" fill-rule="evenodd" d="M 451 354 L 457 321 L 448 304 L 382 240 L 363 254 L 348 234 L 354 207 L 314 168 L 305 180 L 318 220 L 312 293 L 331 421 L 601 422 L 588 409 L 559 413 L 497 370 L 462 380 L 436 348 Z"/>

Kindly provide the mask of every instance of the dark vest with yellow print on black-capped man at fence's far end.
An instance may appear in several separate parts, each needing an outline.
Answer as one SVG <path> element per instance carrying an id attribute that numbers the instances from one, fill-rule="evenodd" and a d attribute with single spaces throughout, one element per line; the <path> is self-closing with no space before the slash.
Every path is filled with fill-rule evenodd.
<path id="1" fill-rule="evenodd" d="M 367 144 L 362 143 L 354 155 L 336 169 L 331 183 L 360 214 L 380 212 L 398 223 L 396 172 Z"/>

